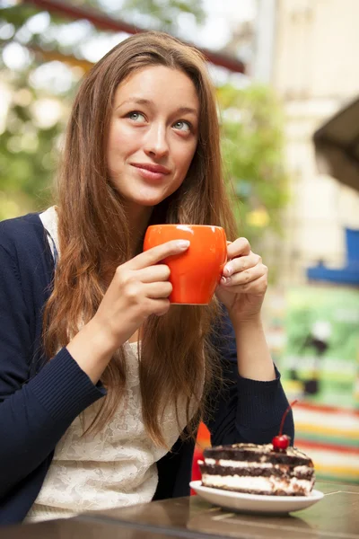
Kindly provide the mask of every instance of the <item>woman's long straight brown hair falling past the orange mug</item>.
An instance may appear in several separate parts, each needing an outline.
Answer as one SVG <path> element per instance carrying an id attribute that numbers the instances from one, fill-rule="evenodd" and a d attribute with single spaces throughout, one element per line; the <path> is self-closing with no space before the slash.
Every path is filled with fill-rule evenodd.
<path id="1" fill-rule="evenodd" d="M 153 209 L 152 222 L 222 225 L 235 234 L 232 210 L 222 176 L 215 92 L 204 57 L 192 47 L 161 32 L 146 32 L 119 43 L 83 80 L 68 124 L 63 163 L 58 176 L 60 260 L 53 292 L 44 313 L 44 345 L 48 358 L 66 346 L 89 322 L 105 292 L 104 276 L 131 256 L 131 238 L 123 204 L 109 181 L 106 145 L 114 93 L 136 69 L 161 65 L 188 75 L 200 103 L 198 143 L 180 189 Z M 194 433 L 217 366 L 210 333 L 219 308 L 172 306 L 150 316 L 143 328 L 139 376 L 144 424 L 153 441 L 166 446 L 161 421 L 168 403 L 180 402 Z M 126 382 L 121 349 L 101 376 L 108 394 L 91 429 L 101 429 L 120 401 Z M 190 418 L 195 403 L 197 414 Z"/>

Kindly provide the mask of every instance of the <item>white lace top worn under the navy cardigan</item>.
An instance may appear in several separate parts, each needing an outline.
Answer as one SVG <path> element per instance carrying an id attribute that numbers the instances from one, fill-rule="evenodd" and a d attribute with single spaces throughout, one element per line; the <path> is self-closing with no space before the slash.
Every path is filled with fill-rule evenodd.
<path id="1" fill-rule="evenodd" d="M 40 218 L 57 246 L 57 216 L 48 208 Z M 50 239 L 49 239 L 50 240 Z M 49 241 L 51 248 L 51 241 Z M 54 253 L 54 250 L 53 250 Z M 138 377 L 137 343 L 125 344 L 127 383 L 123 399 L 109 424 L 98 434 L 83 437 L 76 418 L 57 444 L 45 482 L 31 508 L 27 522 L 73 517 L 83 511 L 125 507 L 153 498 L 158 475 L 156 462 L 166 450 L 154 446 L 144 429 Z M 84 411 L 92 420 L 95 402 Z M 186 425 L 184 406 L 180 429 Z M 175 411 L 170 406 L 162 422 L 163 435 L 172 446 L 180 435 Z"/>

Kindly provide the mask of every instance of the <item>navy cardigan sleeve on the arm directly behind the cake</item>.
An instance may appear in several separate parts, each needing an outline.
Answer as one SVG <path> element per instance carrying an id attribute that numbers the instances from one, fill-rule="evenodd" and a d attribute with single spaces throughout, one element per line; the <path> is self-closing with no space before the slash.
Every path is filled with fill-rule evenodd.
<path id="1" fill-rule="evenodd" d="M 215 328 L 213 344 L 220 356 L 223 384 L 208 400 L 206 426 L 211 433 L 212 446 L 270 443 L 279 432 L 288 406 L 278 370 L 275 367 L 276 379 L 271 381 L 250 380 L 239 375 L 235 335 L 228 314 L 223 315 Z M 286 416 L 284 433 L 293 443 L 292 411 Z"/>

